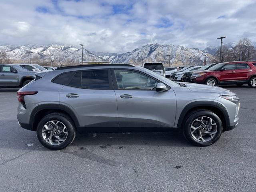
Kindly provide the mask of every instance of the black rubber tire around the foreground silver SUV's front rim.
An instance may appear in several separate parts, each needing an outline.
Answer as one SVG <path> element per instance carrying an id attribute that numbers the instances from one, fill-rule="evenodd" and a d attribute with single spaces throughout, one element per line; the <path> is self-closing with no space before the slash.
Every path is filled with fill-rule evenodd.
<path id="1" fill-rule="evenodd" d="M 212 118 L 212 120 L 214 120 L 214 122 L 216 123 L 216 127 L 215 127 L 216 128 L 216 134 L 213 135 L 210 140 L 205 141 L 205 142 L 196 140 L 192 136 L 192 133 L 190 131 L 192 129 L 191 126 L 192 126 L 192 123 L 194 122 L 194 120 L 196 120 L 197 118 L 200 118 L 202 116 Z M 220 120 L 220 118 L 214 112 L 212 112 L 210 110 L 195 110 L 195 111 L 192 111 L 188 115 L 186 115 L 185 119 L 186 119 L 186 121 L 183 124 L 183 134 L 184 134 L 185 138 L 190 143 L 192 143 L 193 145 L 209 146 L 211 144 L 214 144 L 220 138 L 220 136 L 222 134 L 222 130 L 223 130 L 222 121 Z M 200 130 L 197 130 L 197 131 L 200 131 Z M 205 136 L 208 136 L 208 134 L 205 134 Z"/>

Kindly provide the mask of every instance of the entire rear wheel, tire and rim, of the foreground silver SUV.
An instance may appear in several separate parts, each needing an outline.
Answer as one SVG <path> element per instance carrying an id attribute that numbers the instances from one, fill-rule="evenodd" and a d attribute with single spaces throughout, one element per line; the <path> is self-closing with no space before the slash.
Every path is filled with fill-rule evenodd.
<path id="1" fill-rule="evenodd" d="M 36 134 L 40 143 L 46 148 L 61 150 L 73 142 L 76 137 L 76 128 L 68 116 L 52 113 L 42 118 Z"/>

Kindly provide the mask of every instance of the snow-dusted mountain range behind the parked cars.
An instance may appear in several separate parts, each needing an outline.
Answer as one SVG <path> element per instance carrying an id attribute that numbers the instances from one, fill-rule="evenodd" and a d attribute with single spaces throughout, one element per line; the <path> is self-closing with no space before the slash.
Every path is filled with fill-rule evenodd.
<path id="1" fill-rule="evenodd" d="M 50 54 L 54 54 L 56 64 L 79 64 L 82 61 L 82 49 L 66 44 L 36 45 L 29 44 L 23 46 L 0 46 L 0 51 L 6 52 L 8 57 L 14 62 L 29 62 L 31 56 L 32 63 L 50 62 Z M 90 52 L 83 49 L 84 61 L 110 61 L 112 63 L 143 63 L 143 62 L 163 62 L 178 65 L 203 64 L 210 61 L 214 56 L 207 51 L 198 48 L 186 48 L 184 46 L 172 44 L 147 44 L 127 53 Z"/>

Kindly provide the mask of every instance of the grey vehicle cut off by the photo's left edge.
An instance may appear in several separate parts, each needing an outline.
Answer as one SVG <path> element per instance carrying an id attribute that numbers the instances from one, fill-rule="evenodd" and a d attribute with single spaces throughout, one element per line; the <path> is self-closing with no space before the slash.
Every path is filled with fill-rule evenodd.
<path id="1" fill-rule="evenodd" d="M 19 65 L 0 64 L 0 88 L 22 87 L 35 78 L 34 72 L 30 72 Z"/>

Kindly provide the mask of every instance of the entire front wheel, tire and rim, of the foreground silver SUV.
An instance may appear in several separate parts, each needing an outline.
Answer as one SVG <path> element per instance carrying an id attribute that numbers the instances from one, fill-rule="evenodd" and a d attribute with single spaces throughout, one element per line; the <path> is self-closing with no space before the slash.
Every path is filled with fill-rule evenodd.
<path id="1" fill-rule="evenodd" d="M 196 146 L 214 144 L 221 136 L 223 127 L 220 118 L 209 110 L 196 110 L 186 116 L 183 133 Z"/>

